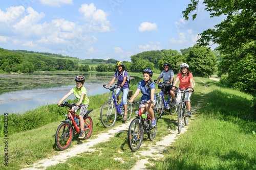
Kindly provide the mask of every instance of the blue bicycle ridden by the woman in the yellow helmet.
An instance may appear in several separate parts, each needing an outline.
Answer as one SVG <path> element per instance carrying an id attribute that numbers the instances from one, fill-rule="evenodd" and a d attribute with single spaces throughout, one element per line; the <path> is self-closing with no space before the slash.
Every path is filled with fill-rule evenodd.
<path id="1" fill-rule="evenodd" d="M 105 88 L 107 85 L 103 85 Z M 115 89 L 118 88 L 120 84 L 115 84 L 112 88 L 109 87 L 110 95 L 109 95 L 109 100 L 106 101 L 100 111 L 100 119 L 101 123 L 105 128 L 111 128 L 112 126 L 115 125 L 116 119 L 119 115 L 122 115 L 122 119 L 124 116 L 124 106 L 123 106 L 123 93 L 122 93 L 122 98 L 120 105 L 116 103 L 116 95 L 115 95 Z M 121 90 L 122 91 L 122 90 Z M 112 94 L 111 94 L 112 93 Z M 132 91 L 130 90 L 128 95 L 127 95 L 127 101 L 131 99 L 132 96 Z M 130 120 L 132 116 L 132 111 L 133 111 L 133 104 L 127 102 L 127 120 Z"/>

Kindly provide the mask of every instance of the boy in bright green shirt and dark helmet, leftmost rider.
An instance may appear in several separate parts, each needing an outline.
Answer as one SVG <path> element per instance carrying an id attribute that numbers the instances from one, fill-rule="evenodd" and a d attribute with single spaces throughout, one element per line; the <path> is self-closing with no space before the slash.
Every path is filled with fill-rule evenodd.
<path id="1" fill-rule="evenodd" d="M 76 106 L 74 106 L 72 108 L 72 111 L 77 112 L 79 109 L 79 106 L 81 107 L 80 113 L 78 115 L 79 119 L 80 119 L 80 128 L 81 128 L 80 135 L 78 138 L 83 139 L 83 137 L 85 136 L 84 131 L 83 131 L 83 127 L 84 127 L 83 116 L 86 114 L 86 112 L 88 110 L 89 99 L 87 97 L 86 88 L 83 87 L 83 84 L 85 81 L 84 77 L 79 75 L 75 78 L 75 81 L 76 81 L 76 87 L 72 88 L 68 94 L 63 96 L 63 98 L 58 102 L 58 105 L 60 106 L 60 104 L 63 101 L 65 101 L 65 99 L 67 99 L 72 93 L 74 93 L 78 103 L 76 103 Z"/>

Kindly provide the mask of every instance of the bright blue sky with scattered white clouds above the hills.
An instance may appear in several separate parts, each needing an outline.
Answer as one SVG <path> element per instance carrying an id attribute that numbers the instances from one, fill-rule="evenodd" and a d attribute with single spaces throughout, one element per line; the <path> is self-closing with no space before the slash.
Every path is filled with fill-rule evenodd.
<path id="1" fill-rule="evenodd" d="M 193 46 L 198 34 L 224 20 L 199 4 L 197 18 L 182 15 L 188 0 L 19 0 L 0 4 L 0 47 L 79 59 L 131 61 L 143 51 Z M 216 45 L 212 45 L 212 50 Z"/>

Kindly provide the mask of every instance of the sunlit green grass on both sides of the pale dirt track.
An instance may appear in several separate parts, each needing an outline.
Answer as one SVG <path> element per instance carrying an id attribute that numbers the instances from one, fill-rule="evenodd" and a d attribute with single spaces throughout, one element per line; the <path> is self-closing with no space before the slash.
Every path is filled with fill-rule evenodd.
<path id="1" fill-rule="evenodd" d="M 158 75 L 154 75 L 153 79 Z M 142 78 L 141 74 L 131 74 L 131 76 Z M 166 148 L 164 158 L 158 160 L 150 158 L 153 165 L 147 164 L 147 168 L 256 169 L 256 114 L 251 107 L 252 96 L 226 88 L 214 80 L 194 77 L 194 81 L 195 92 L 191 96 L 191 107 L 198 107 L 198 110 L 192 114 L 193 118 L 189 119 L 187 132 Z M 137 83 L 131 85 L 131 88 L 135 90 Z M 157 92 L 159 89 L 156 89 Z M 100 109 L 107 96 L 108 94 L 96 95 L 90 99 L 91 104 L 95 103 L 94 106 L 90 104 L 89 107 L 89 109 L 94 108 L 90 113 L 93 119 L 91 138 L 96 138 L 98 134 L 109 130 L 104 128 L 100 121 Z M 137 100 L 139 99 L 140 96 L 137 97 Z M 65 114 L 65 108 L 58 109 L 62 109 L 58 111 L 59 113 Z M 0 164 L 1 169 L 30 167 L 30 164 L 40 159 L 66 152 L 57 150 L 55 145 L 56 129 L 60 125 L 59 121 L 65 117 L 56 111 L 41 114 L 48 118 L 53 116 L 55 119 L 46 125 L 22 132 L 12 125 L 17 132 L 8 136 L 9 164 L 8 167 L 3 163 Z M 177 114 L 163 113 L 158 120 L 156 138 L 150 141 L 144 136 L 142 144 L 145 145 L 139 151 L 148 150 L 149 144 L 156 144 L 156 141 L 171 133 L 169 129 L 176 129 L 176 120 Z M 119 117 L 113 128 L 121 124 Z M 3 140 L 4 138 L 1 137 L 1 141 Z M 70 148 L 77 144 L 78 139 L 74 137 Z M 4 147 L 3 142 L 0 143 L 0 147 Z M 46 169 L 131 169 L 138 159 L 147 158 L 139 152 L 131 152 L 127 143 L 127 131 L 115 134 L 115 137 L 95 145 L 93 149 L 95 152 L 79 154 L 64 163 Z M 3 154 L 1 150 L 2 158 Z"/>

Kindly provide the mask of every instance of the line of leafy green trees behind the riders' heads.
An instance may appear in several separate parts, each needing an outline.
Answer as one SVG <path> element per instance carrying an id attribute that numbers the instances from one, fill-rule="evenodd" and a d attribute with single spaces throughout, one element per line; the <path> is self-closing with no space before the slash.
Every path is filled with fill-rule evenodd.
<path id="1" fill-rule="evenodd" d="M 174 70 L 175 74 L 180 71 L 181 63 L 188 63 L 190 71 L 195 76 L 209 77 L 217 71 L 216 60 L 221 60 L 220 54 L 211 51 L 208 47 L 193 47 L 185 48 L 178 52 L 177 50 L 161 50 L 147 51 L 131 56 L 132 62 L 123 61 L 125 70 L 130 72 L 140 72 L 145 68 L 150 68 L 153 72 L 157 69 L 163 70 L 163 64 L 168 62 L 170 69 Z M 101 63 L 96 68 L 97 71 L 116 71 L 115 64 Z"/>

